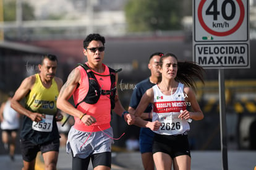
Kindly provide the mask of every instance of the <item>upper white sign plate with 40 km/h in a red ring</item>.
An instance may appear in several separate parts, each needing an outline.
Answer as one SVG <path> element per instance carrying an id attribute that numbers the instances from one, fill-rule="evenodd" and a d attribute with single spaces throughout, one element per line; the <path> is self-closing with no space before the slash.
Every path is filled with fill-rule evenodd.
<path id="1" fill-rule="evenodd" d="M 248 0 L 194 2 L 195 41 L 247 41 Z"/>

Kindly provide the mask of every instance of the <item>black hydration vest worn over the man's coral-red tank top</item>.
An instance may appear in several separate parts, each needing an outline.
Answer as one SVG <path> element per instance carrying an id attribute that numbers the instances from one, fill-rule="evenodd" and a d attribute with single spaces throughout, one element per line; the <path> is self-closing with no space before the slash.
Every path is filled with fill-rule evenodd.
<path id="1" fill-rule="evenodd" d="M 78 65 L 82 66 L 83 69 L 85 69 L 85 72 L 87 73 L 88 81 L 89 81 L 89 89 L 88 89 L 88 93 L 85 96 L 85 98 L 83 98 L 82 101 L 77 103 L 75 108 L 77 108 L 77 106 L 79 106 L 79 104 L 82 102 L 85 102 L 88 104 L 95 104 L 100 99 L 100 95 L 109 95 L 110 101 L 111 101 L 111 109 L 114 109 L 114 106 L 115 106 L 114 98 L 116 96 L 116 73 L 121 72 L 122 69 L 114 70 L 114 69 L 111 69 L 110 67 L 108 67 L 109 74 L 108 75 L 100 75 L 100 74 L 96 74 L 95 72 L 93 72 L 90 69 L 90 67 L 87 66 L 87 64 L 78 64 Z M 111 88 L 109 90 L 101 90 L 100 84 L 98 83 L 94 74 L 100 75 L 100 76 L 110 76 Z"/>

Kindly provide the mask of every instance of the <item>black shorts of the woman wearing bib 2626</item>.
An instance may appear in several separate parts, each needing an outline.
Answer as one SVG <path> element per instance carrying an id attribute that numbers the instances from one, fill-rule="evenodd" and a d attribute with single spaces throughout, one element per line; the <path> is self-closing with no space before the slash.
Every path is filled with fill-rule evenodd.
<path id="1" fill-rule="evenodd" d="M 171 156 L 172 159 L 181 155 L 190 156 L 189 139 L 187 135 L 155 134 L 153 154 L 156 152 L 166 153 Z"/>

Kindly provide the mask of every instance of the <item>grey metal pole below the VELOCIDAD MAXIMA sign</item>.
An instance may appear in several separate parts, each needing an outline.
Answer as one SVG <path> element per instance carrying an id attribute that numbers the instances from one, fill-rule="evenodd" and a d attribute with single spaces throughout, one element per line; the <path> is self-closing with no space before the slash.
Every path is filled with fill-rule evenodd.
<path id="1" fill-rule="evenodd" d="M 226 129 L 226 102 L 224 69 L 219 69 L 219 95 L 220 95 L 220 130 L 221 130 L 221 155 L 222 169 L 228 170 L 228 146 Z"/>

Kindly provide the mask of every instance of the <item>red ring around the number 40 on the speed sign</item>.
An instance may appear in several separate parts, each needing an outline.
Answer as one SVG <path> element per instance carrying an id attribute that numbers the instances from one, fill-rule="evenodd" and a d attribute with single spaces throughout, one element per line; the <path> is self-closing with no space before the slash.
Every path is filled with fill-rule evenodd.
<path id="1" fill-rule="evenodd" d="M 238 30 L 238 28 L 242 25 L 242 22 L 244 20 L 244 4 L 242 3 L 241 0 L 236 0 L 237 4 L 239 5 L 240 8 L 240 17 L 238 22 L 236 23 L 236 25 L 231 29 L 228 30 L 226 32 L 216 32 L 215 30 L 211 30 L 211 28 L 209 28 L 205 22 L 203 21 L 203 17 L 202 17 L 202 10 L 203 10 L 203 4 L 205 4 L 207 0 L 202 0 L 198 6 L 198 11 L 197 11 L 197 15 L 198 15 L 198 20 L 200 22 L 200 24 L 202 25 L 202 27 L 205 29 L 205 31 L 207 31 L 208 33 L 211 33 L 212 35 L 216 35 L 216 36 L 227 36 L 227 35 L 231 35 L 231 33 L 236 32 L 236 30 Z"/>

